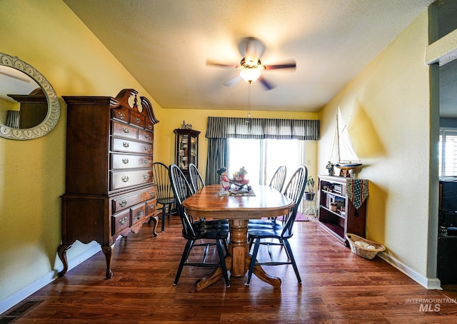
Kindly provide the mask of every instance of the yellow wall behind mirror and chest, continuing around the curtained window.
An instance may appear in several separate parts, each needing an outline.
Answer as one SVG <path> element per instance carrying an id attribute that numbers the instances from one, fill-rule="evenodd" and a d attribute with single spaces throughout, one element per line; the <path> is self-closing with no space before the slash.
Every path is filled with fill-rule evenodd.
<path id="1" fill-rule="evenodd" d="M 246 116 L 246 111 L 162 109 L 61 0 L 0 1 L 0 52 L 34 66 L 61 96 L 116 96 L 135 88 L 147 96 L 160 123 L 156 125 L 154 160 L 174 162 L 174 128 L 182 120 L 201 131 L 199 166 L 206 168 L 207 116 Z M 66 105 L 46 136 L 32 141 L 0 138 L 0 313 L 5 300 L 28 285 L 49 281 L 60 267 L 61 201 L 65 191 Z M 252 111 L 258 118 L 309 118 L 317 113 Z M 308 169 L 316 174 L 316 147 L 307 145 Z M 307 159 L 308 159 L 307 158 Z M 69 260 L 98 248 L 75 243 Z M 101 276 L 104 269 L 100 269 Z M 2 303 L 3 302 L 3 303 Z M 10 306 L 11 307 L 11 306 Z"/>

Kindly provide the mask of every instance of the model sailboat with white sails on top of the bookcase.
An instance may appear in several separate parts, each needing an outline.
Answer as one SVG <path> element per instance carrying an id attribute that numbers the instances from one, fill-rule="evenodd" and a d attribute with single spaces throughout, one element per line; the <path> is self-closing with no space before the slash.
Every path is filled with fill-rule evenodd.
<path id="1" fill-rule="evenodd" d="M 351 176 L 353 168 L 362 165 L 352 145 L 351 137 L 349 137 L 348 128 L 341 116 L 339 105 L 336 113 L 336 129 L 331 147 L 330 161 L 340 169 L 340 176 L 347 177 Z"/>

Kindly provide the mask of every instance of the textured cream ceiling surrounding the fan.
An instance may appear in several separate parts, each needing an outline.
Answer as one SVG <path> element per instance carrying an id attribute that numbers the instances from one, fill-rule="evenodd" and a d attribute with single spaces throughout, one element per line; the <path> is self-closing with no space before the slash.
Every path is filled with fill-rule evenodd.
<path id="1" fill-rule="evenodd" d="M 64 0 L 163 108 L 246 109 L 238 42 L 256 37 L 276 87 L 251 88 L 252 110 L 318 111 L 432 0 Z"/>

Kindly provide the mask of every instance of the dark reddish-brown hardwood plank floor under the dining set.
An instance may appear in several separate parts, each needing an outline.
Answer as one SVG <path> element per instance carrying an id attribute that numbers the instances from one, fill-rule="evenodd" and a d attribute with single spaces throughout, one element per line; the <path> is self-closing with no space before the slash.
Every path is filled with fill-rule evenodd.
<path id="1" fill-rule="evenodd" d="M 380 258 L 351 253 L 316 222 L 297 222 L 291 240 L 303 282 L 290 265 L 268 267 L 273 289 L 253 277 L 219 280 L 196 292 L 211 269 L 184 268 L 174 286 L 184 239 L 179 218 L 153 238 L 145 225 L 116 243 L 113 278 L 100 252 L 39 290 L 43 300 L 16 323 L 456 323 L 457 304 L 426 290 Z M 281 251 L 278 251 L 280 253 Z M 456 298 L 456 295 L 453 295 Z"/>

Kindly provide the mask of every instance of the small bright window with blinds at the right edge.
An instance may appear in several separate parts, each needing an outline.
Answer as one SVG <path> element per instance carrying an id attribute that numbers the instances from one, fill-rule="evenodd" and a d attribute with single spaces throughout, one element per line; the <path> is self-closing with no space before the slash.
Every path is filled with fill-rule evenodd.
<path id="1" fill-rule="evenodd" d="M 457 129 L 440 128 L 440 176 L 457 176 Z"/>

